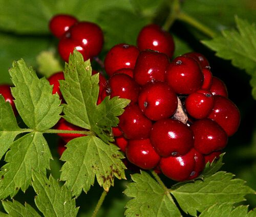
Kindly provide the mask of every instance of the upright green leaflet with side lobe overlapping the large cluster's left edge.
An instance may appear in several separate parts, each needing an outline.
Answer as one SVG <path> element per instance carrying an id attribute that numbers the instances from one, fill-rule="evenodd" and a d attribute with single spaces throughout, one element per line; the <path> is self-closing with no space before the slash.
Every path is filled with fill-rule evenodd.
<path id="1" fill-rule="evenodd" d="M 105 98 L 100 105 L 96 105 L 99 93 L 99 75 L 92 76 L 90 61 L 83 61 L 78 51 L 70 56 L 66 64 L 65 80 L 61 80 L 60 89 L 64 104 L 64 117 L 71 124 L 95 132 L 105 142 L 113 141 L 110 136 L 112 126 L 117 126 L 117 116 L 123 113 L 123 108 L 129 100 Z"/>

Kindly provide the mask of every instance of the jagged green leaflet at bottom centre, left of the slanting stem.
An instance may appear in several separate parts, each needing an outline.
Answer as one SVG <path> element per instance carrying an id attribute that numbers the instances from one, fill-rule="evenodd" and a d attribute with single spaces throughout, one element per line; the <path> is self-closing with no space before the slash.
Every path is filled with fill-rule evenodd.
<path id="1" fill-rule="evenodd" d="M 133 198 L 125 206 L 125 216 L 181 216 L 169 192 L 146 172 L 132 175 L 132 180 L 134 182 L 124 191 L 126 196 Z"/>

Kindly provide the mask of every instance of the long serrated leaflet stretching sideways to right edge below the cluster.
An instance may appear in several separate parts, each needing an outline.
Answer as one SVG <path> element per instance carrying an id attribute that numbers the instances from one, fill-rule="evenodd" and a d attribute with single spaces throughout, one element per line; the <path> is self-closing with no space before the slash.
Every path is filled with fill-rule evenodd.
<path id="1" fill-rule="evenodd" d="M 184 212 L 197 216 L 197 210 L 202 212 L 216 203 L 238 203 L 244 201 L 247 194 L 255 194 L 253 189 L 245 185 L 245 181 L 233 179 L 233 176 L 221 171 L 204 180 L 173 188 L 170 193 Z"/>

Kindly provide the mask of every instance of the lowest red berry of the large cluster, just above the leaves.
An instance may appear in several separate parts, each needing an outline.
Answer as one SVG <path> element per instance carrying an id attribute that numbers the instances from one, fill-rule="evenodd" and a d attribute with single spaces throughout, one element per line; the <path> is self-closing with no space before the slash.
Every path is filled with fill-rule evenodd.
<path id="1" fill-rule="evenodd" d="M 195 175 L 195 153 L 193 150 L 179 157 L 162 157 L 160 160 L 160 168 L 168 178 L 182 182 Z"/>

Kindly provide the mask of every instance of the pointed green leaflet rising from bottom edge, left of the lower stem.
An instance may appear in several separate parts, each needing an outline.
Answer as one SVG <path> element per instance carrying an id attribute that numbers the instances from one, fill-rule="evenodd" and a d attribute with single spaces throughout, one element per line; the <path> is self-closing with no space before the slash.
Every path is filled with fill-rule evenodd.
<path id="1" fill-rule="evenodd" d="M 35 204 L 44 216 L 76 216 L 78 207 L 71 191 L 50 176 L 49 179 L 39 172 L 32 172 L 32 186 L 37 194 Z"/>

